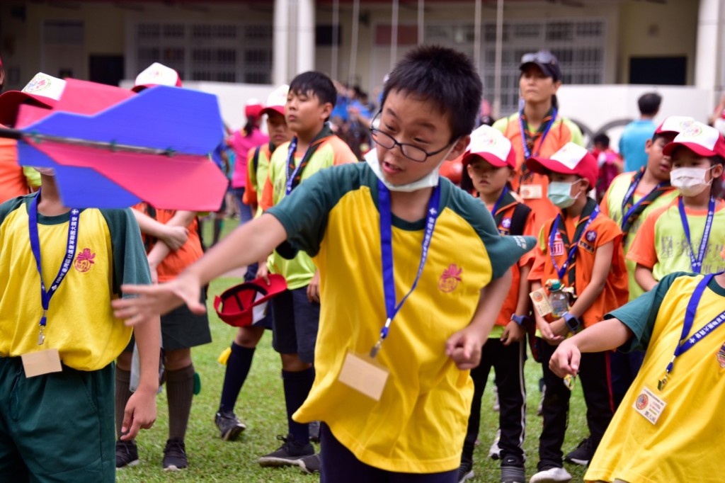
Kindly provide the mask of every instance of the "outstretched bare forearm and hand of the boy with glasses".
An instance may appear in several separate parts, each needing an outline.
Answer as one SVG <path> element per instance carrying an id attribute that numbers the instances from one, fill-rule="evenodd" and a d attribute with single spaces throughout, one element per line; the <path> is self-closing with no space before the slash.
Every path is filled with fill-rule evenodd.
<path id="1" fill-rule="evenodd" d="M 285 228 L 273 215 L 255 218 L 233 231 L 173 281 L 162 285 L 122 286 L 124 294 L 139 297 L 114 300 L 114 313 L 129 323 L 149 320 L 184 303 L 192 312 L 204 313 L 206 307 L 199 302 L 202 285 L 233 268 L 264 259 L 286 238 Z"/>

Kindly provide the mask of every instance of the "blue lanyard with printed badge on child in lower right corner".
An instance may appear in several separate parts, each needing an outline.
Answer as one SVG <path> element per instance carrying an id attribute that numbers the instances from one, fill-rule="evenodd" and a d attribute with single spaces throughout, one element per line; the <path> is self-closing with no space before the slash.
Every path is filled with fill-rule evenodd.
<path id="1" fill-rule="evenodd" d="M 719 315 L 717 315 L 716 318 L 713 318 L 712 321 L 706 323 L 702 329 L 695 332 L 695 334 L 692 334 L 692 336 L 689 336 L 689 331 L 692 330 L 692 323 L 695 322 L 697 305 L 700 304 L 700 299 L 703 297 L 703 292 L 705 292 L 705 288 L 708 286 L 708 284 L 715 275 L 716 274 L 711 273 L 703 277 L 703 279 L 700 280 L 700 283 L 697 284 L 697 287 L 695 287 L 695 291 L 692 292 L 692 297 L 690 297 L 689 302 L 687 302 L 687 310 L 685 311 L 684 322 L 682 323 L 682 334 L 680 334 L 680 338 L 675 347 L 672 359 L 665 368 L 665 375 L 662 379 L 657 381 L 657 389 L 659 392 L 663 392 L 663 389 L 665 389 L 665 384 L 667 384 L 668 378 L 671 377 L 671 372 L 674 368 L 675 360 L 680 355 L 684 354 L 684 352 L 687 352 L 692 347 L 694 347 L 697 342 L 700 342 L 702 339 L 705 339 L 705 337 L 712 334 L 713 331 L 718 328 L 718 326 L 721 326 L 723 323 L 725 323 L 724 310 Z M 719 361 L 718 355 L 716 355 L 716 358 Z M 667 402 L 665 402 L 665 400 L 655 394 L 653 390 L 645 386 L 642 387 L 642 391 L 639 392 L 637 400 L 634 401 L 634 405 L 632 405 L 632 407 L 634 408 L 634 410 L 637 411 L 637 413 L 640 413 L 642 416 L 644 416 L 647 421 L 650 421 L 650 423 L 652 424 L 657 424 L 657 420 L 660 418 L 660 415 L 666 405 Z"/>

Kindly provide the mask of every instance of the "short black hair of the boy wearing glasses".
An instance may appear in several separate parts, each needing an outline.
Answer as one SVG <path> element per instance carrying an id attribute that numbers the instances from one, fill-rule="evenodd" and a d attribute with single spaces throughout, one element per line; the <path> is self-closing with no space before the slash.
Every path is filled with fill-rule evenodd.
<path id="1" fill-rule="evenodd" d="M 476 126 L 483 86 L 467 55 L 442 46 L 420 46 L 394 67 L 383 88 L 381 106 L 390 91 L 415 94 L 448 115 L 451 140 L 468 136 Z"/>

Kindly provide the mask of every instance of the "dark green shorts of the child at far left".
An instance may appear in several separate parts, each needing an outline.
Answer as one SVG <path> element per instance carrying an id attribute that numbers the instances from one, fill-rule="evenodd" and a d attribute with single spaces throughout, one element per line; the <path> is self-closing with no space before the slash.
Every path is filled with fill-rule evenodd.
<path id="1" fill-rule="evenodd" d="M 113 482 L 113 384 L 113 364 L 28 379 L 0 358 L 0 481 Z"/>

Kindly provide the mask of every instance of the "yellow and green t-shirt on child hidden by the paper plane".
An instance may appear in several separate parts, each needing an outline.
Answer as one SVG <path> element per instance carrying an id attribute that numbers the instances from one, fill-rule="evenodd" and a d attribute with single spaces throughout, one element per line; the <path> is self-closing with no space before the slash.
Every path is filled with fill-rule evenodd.
<path id="1" fill-rule="evenodd" d="M 141 231 L 130 210 L 81 210 L 70 271 L 53 295 L 38 346 L 43 315 L 41 283 L 30 250 L 28 206 L 36 194 L 0 205 L 0 357 L 54 348 L 62 363 L 80 371 L 104 368 L 128 344 L 131 328 L 113 316 L 121 284 L 150 284 Z M 67 249 L 69 215 L 38 213 L 43 281 L 54 281 Z"/>

